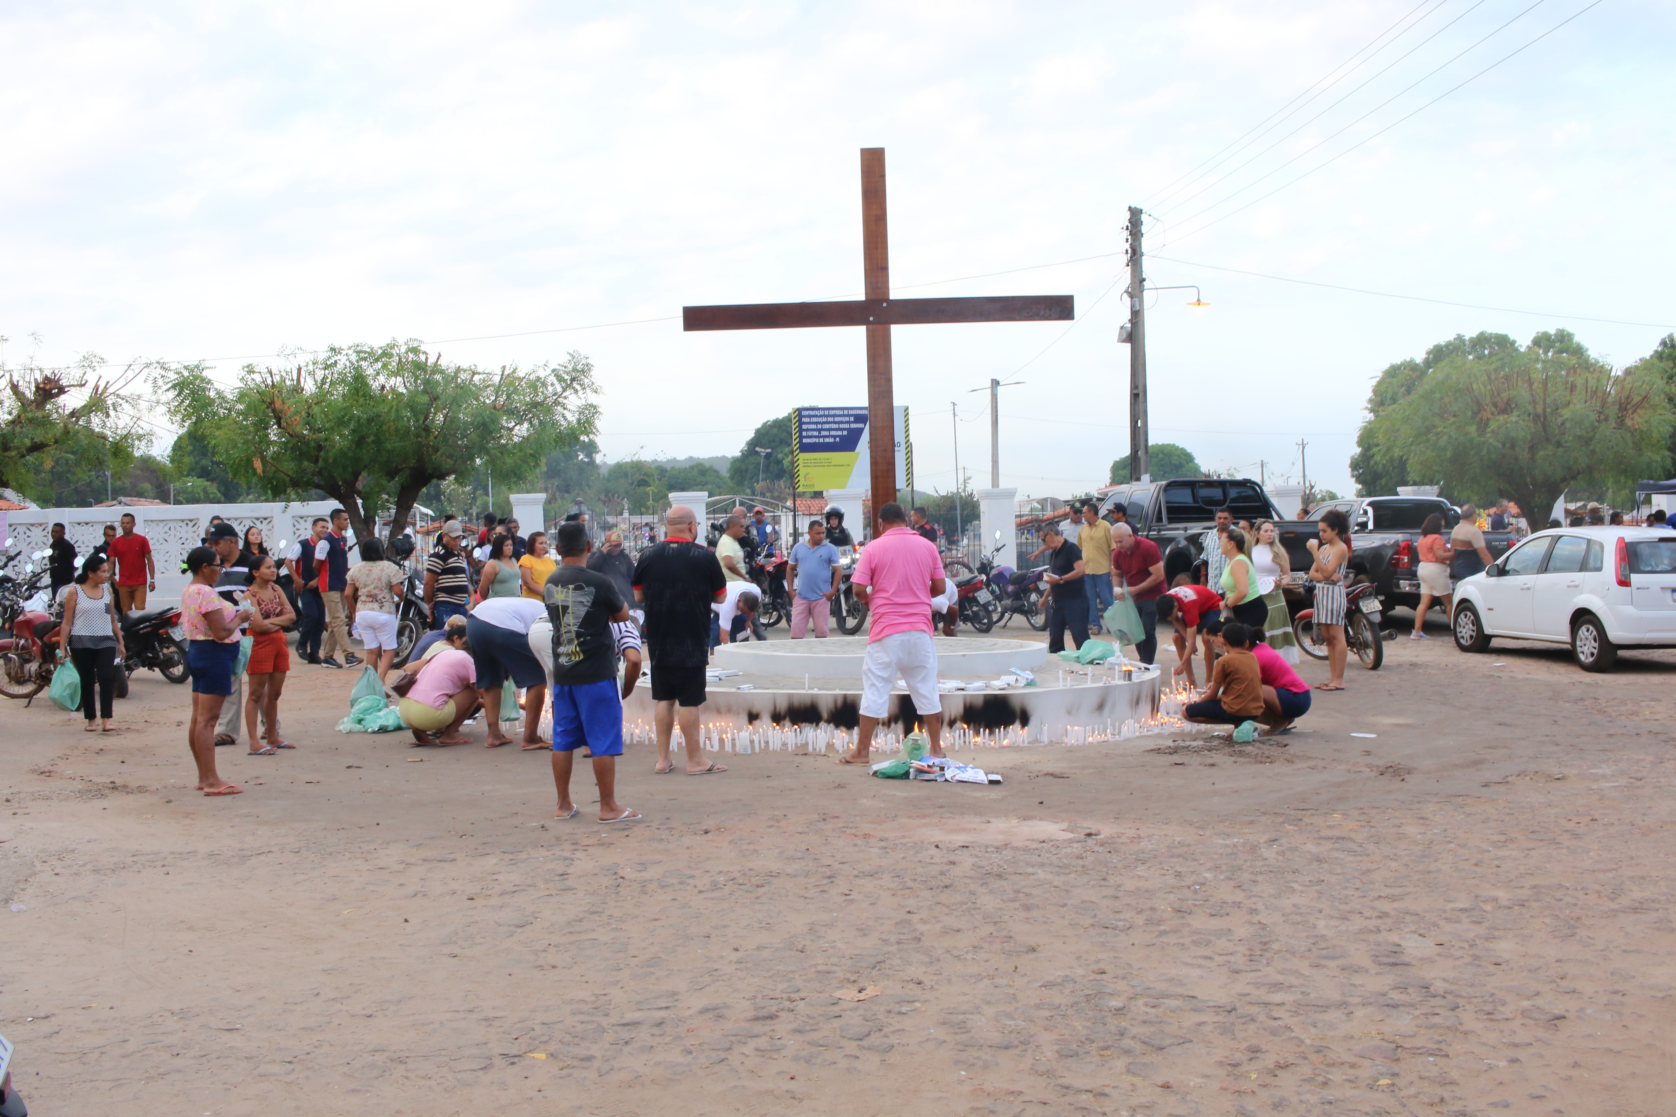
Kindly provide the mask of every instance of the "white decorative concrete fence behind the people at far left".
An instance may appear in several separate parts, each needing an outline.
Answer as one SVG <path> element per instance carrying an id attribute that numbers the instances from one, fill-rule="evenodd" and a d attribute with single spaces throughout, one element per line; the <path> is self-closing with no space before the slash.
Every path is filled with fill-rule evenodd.
<path id="1" fill-rule="evenodd" d="M 64 524 L 64 538 L 75 544 L 77 559 L 85 558 L 104 541 L 104 526 L 117 524 L 124 512 L 132 512 L 134 531 L 151 543 L 151 556 L 158 563 L 158 591 L 149 605 L 176 605 L 186 588 L 181 563 L 210 529 L 210 517 L 220 516 L 240 536 L 246 528 L 260 528 L 268 551 L 278 559 L 285 556 L 300 536 L 308 534 L 308 522 L 325 516 L 334 501 L 298 501 L 277 504 L 137 504 L 112 507 L 34 507 L 3 512 L 10 549 L 34 554 L 52 543 L 52 524 Z M 5 543 L 0 539 L 0 543 Z M 283 548 L 280 544 L 285 544 Z"/>

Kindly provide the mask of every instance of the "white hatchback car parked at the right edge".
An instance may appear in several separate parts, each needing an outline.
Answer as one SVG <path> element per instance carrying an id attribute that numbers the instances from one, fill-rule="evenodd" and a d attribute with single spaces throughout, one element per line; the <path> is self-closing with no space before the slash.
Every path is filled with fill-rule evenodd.
<path id="1" fill-rule="evenodd" d="M 1676 531 L 1549 528 L 1455 586 L 1455 646 L 1492 636 L 1569 643 L 1606 672 L 1619 648 L 1676 648 Z"/>

